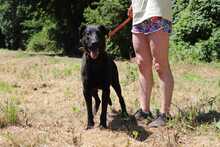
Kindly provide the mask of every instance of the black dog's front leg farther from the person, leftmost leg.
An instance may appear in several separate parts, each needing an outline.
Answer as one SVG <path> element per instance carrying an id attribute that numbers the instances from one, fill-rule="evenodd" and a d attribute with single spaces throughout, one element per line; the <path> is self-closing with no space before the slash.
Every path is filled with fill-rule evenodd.
<path id="1" fill-rule="evenodd" d="M 87 128 L 91 129 L 94 127 L 94 120 L 93 120 L 93 113 L 92 113 L 92 91 L 91 90 L 83 90 L 83 95 L 86 101 L 86 108 L 87 108 Z"/>

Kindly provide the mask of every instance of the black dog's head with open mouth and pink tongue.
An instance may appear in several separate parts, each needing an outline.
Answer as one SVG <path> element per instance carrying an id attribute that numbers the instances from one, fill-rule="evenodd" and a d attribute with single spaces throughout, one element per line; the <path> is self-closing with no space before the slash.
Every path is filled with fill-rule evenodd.
<path id="1" fill-rule="evenodd" d="M 105 52 L 105 36 L 108 30 L 103 25 L 87 25 L 80 28 L 81 46 L 92 59 Z"/>

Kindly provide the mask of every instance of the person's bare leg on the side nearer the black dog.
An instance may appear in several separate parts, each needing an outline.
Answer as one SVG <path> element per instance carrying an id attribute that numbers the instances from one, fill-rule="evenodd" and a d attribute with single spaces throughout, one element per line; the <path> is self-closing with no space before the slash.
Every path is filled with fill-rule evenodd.
<path id="1" fill-rule="evenodd" d="M 136 63 L 139 68 L 139 100 L 141 109 L 150 112 L 150 95 L 153 85 L 152 56 L 147 36 L 143 33 L 133 33 L 133 47 L 136 54 Z"/>

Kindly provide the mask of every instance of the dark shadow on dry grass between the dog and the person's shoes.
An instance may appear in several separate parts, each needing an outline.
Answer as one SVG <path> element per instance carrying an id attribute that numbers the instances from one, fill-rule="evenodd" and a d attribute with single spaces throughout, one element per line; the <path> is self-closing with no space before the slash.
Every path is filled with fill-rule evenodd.
<path id="1" fill-rule="evenodd" d="M 139 126 L 134 116 L 123 118 L 120 112 L 114 111 L 109 115 L 109 129 L 125 132 L 129 137 L 137 141 L 145 141 L 152 133 Z"/>

